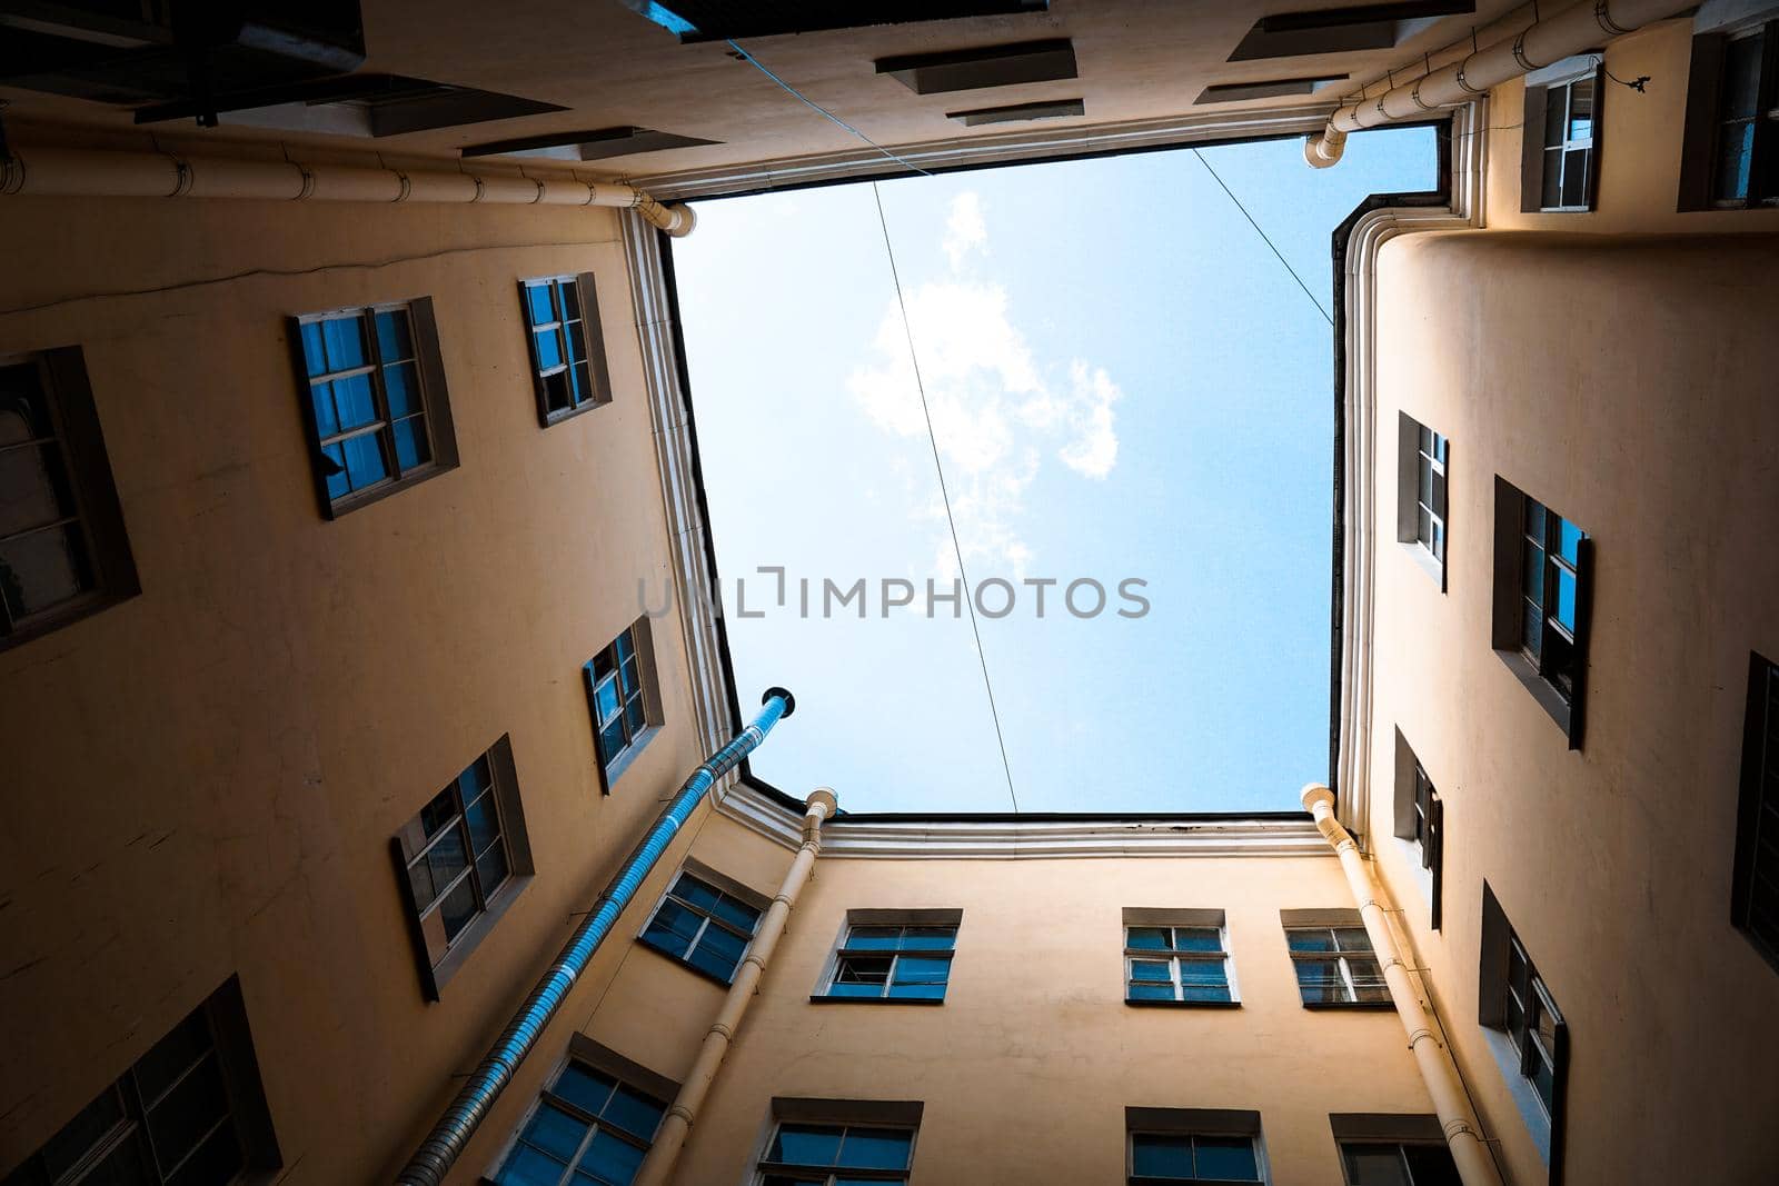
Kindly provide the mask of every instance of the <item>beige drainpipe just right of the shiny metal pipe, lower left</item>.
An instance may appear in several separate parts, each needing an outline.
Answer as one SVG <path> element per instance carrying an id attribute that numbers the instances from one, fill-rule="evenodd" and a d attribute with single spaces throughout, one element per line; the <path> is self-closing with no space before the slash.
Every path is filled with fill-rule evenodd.
<path id="1" fill-rule="evenodd" d="M 692 1063 L 692 1070 L 687 1072 L 685 1085 L 674 1097 L 672 1108 L 667 1110 L 667 1118 L 662 1120 L 660 1129 L 655 1133 L 655 1143 L 632 1179 L 632 1186 L 665 1186 L 672 1175 L 674 1161 L 678 1161 L 680 1150 L 685 1147 L 685 1138 L 697 1120 L 697 1110 L 717 1081 L 717 1069 L 722 1067 L 722 1056 L 729 1053 L 729 1044 L 735 1042 L 742 1017 L 747 1015 L 747 1006 L 753 1005 L 760 978 L 767 971 L 767 960 L 772 958 L 772 950 L 777 946 L 779 935 L 785 934 L 785 921 L 790 918 L 792 907 L 797 905 L 797 894 L 802 893 L 804 882 L 809 880 L 815 859 L 822 853 L 822 821 L 834 814 L 834 791 L 825 786 L 817 788 L 809 791 L 806 802 L 802 848 L 797 850 L 797 857 L 790 862 L 790 871 L 785 873 L 785 880 L 772 898 L 772 909 L 767 910 L 765 919 L 760 923 L 760 932 L 747 950 L 747 958 L 742 960 L 742 967 L 735 973 L 735 982 L 729 985 L 729 996 L 722 999 L 722 1010 L 717 1014 L 717 1021 L 710 1024 L 710 1033 L 704 1035 L 697 1060 Z"/>

